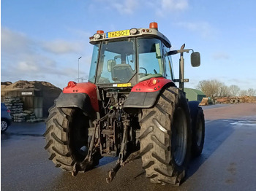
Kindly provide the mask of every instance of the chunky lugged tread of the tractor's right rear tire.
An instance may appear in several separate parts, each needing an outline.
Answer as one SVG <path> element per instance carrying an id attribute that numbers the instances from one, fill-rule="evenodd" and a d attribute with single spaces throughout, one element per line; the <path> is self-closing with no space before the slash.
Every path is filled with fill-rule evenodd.
<path id="1" fill-rule="evenodd" d="M 143 168 L 146 170 L 146 177 L 153 183 L 177 186 L 185 176 L 184 170 L 177 170 L 178 168 L 173 165 L 175 162 L 170 154 L 173 114 L 180 102 L 187 104 L 181 90 L 178 90 L 177 87 L 167 87 L 152 108 L 142 109 L 140 155 L 143 160 Z M 189 116 L 189 107 L 186 106 L 186 114 Z M 190 130 L 190 125 L 188 129 Z M 190 149 L 190 142 L 187 147 Z"/>

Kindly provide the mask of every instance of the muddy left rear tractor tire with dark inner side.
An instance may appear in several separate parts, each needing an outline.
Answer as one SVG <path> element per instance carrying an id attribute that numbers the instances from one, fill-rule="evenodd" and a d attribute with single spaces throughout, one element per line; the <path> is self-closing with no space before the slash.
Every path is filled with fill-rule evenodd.
<path id="1" fill-rule="evenodd" d="M 45 149 L 49 152 L 57 168 L 73 171 L 73 165 L 80 163 L 87 153 L 81 152 L 81 147 L 88 146 L 89 118 L 80 109 L 59 108 L 49 109 L 46 120 Z M 97 165 L 99 160 L 94 161 Z"/>

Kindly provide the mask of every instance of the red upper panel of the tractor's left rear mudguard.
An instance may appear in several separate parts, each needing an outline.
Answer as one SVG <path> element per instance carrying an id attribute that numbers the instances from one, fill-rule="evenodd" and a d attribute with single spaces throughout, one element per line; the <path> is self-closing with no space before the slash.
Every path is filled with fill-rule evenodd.
<path id="1" fill-rule="evenodd" d="M 89 95 L 92 108 L 96 112 L 99 112 L 96 85 L 90 82 L 76 83 L 71 81 L 68 83 L 67 87 L 63 88 L 63 93 L 86 93 Z"/>

